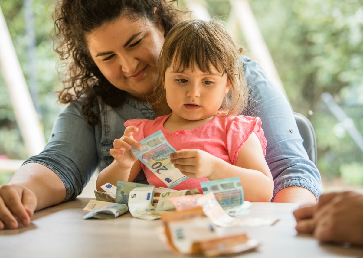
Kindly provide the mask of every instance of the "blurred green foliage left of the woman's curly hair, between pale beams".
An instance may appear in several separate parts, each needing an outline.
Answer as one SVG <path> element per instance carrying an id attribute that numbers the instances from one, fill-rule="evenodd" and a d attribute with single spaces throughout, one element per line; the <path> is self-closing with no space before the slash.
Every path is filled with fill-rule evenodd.
<path id="1" fill-rule="evenodd" d="M 52 50 L 53 41 L 49 34 L 53 28 L 52 12 L 54 1 L 33 0 L 35 36 L 35 67 L 29 66 L 28 44 L 25 32 L 25 13 L 23 0 L 1 0 L 0 6 L 5 16 L 10 35 L 21 68 L 28 81 L 29 73 L 34 72 L 38 90 L 39 118 L 48 139 L 57 114 L 62 106 L 57 105 L 54 90 L 60 89 L 61 82 L 56 71 L 57 55 Z M 25 150 L 15 115 L 11 106 L 9 93 L 0 72 L 0 155 L 9 159 L 26 159 Z"/>

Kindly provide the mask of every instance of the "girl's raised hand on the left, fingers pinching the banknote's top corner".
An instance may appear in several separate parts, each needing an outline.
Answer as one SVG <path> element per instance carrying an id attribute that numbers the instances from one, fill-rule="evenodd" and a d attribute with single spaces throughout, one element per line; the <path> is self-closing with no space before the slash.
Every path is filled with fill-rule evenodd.
<path id="1" fill-rule="evenodd" d="M 137 160 L 131 151 L 131 146 L 140 149 L 141 144 L 137 142 L 132 134 L 139 129 L 135 126 L 128 126 L 120 139 L 114 140 L 114 147 L 110 150 L 111 156 L 117 161 L 123 169 L 129 169 Z"/>

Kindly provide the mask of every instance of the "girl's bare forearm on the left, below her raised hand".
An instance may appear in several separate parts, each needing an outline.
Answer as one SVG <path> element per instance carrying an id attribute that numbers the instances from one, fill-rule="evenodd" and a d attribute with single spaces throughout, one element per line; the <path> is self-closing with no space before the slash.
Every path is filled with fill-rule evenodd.
<path id="1" fill-rule="evenodd" d="M 121 168 L 116 160 L 99 173 L 96 181 L 97 191 L 103 191 L 101 186 L 110 183 L 117 185 L 117 181 L 133 181 L 140 172 L 140 161 L 136 160 L 134 165 L 129 168 Z"/>

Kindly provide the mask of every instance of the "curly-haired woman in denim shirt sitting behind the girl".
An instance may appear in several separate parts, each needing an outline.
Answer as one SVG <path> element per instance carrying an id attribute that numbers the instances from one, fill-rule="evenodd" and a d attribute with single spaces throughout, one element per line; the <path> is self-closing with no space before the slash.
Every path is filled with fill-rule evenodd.
<path id="1" fill-rule="evenodd" d="M 29 225 L 34 210 L 75 198 L 98 167 L 113 158 L 113 140 L 128 119 L 155 119 L 163 107 L 145 102 L 156 82 L 164 36 L 182 12 L 166 0 L 64 0 L 56 9 L 57 52 L 68 64 L 60 101 L 69 106 L 54 124 L 44 151 L 30 157 L 0 188 L 0 229 Z M 273 201 L 316 202 L 321 179 L 302 145 L 291 108 L 260 65 L 247 57 L 253 101 L 274 177 Z M 152 102 L 152 100 L 151 100 Z M 143 173 L 135 181 L 144 181 Z"/>

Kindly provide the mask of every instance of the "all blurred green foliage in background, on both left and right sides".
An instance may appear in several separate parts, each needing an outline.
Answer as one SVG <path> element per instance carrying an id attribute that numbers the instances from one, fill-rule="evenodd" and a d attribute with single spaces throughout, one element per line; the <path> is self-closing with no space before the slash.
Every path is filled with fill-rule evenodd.
<path id="1" fill-rule="evenodd" d="M 228 20 L 228 1 L 207 3 L 211 16 Z M 1 0 L 25 77 L 28 79 L 30 70 L 36 71 L 40 119 L 46 139 L 62 108 L 55 104 L 54 90 L 60 89 L 61 82 L 49 38 L 54 4 L 50 0 L 33 0 L 36 67 L 29 67 L 23 0 Z M 293 110 L 313 123 L 322 175 L 342 176 L 350 184 L 363 184 L 363 153 L 321 100 L 323 92 L 333 95 L 358 131 L 363 132 L 363 1 L 251 0 L 250 4 Z M 237 38 L 248 49 L 243 37 Z M 11 159 L 28 156 L 1 73 L 0 155 Z"/>

